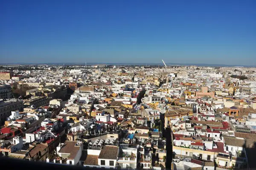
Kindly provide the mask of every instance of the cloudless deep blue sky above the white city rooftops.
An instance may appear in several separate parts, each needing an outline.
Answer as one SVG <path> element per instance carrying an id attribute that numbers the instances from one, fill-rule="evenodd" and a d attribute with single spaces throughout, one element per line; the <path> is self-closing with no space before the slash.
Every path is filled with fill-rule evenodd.
<path id="1" fill-rule="evenodd" d="M 256 65 L 256 0 L 1 0 L 0 63 Z"/>

